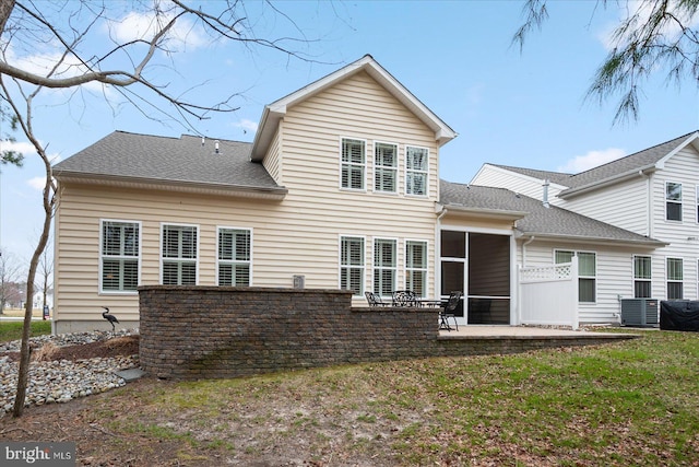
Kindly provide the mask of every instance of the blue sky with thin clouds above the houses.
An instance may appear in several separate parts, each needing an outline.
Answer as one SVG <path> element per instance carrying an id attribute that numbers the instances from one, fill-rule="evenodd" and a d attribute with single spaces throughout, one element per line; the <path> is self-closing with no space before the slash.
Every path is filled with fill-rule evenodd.
<path id="1" fill-rule="evenodd" d="M 258 34 L 313 39 L 297 46 L 313 61 L 212 44 L 199 40 L 196 32 L 190 32 L 186 51 L 170 61 L 158 57 L 169 65 L 152 72 L 175 94 L 186 92 L 206 104 L 240 93 L 234 100 L 238 110 L 212 115 L 197 131 L 252 141 L 265 104 L 366 54 L 459 133 L 440 152 L 440 175 L 451 182 L 470 182 L 486 162 L 580 172 L 699 129 L 699 93 L 690 79 L 677 86 L 660 73 L 643 89 L 640 119 L 623 125 L 612 125 L 615 100 L 584 101 L 607 54 L 606 33 L 623 14 L 614 2 L 595 10 L 593 1 L 550 1 L 549 20 L 530 35 L 521 54 L 511 46 L 523 21 L 520 1 L 275 4 L 295 25 L 269 5 L 248 2 Z M 105 37 L 106 30 L 96 31 L 94 44 Z M 32 61 L 36 52 L 17 50 L 17 60 Z M 199 83 L 205 84 L 192 87 Z M 193 132 L 175 121 L 149 119 L 114 93 L 88 89 L 48 93 L 35 120 L 35 132 L 57 161 L 115 130 L 171 137 Z M 0 246 L 28 261 L 43 219 L 37 189 L 43 170 L 35 153 L 24 152 L 23 168 L 2 167 Z"/>

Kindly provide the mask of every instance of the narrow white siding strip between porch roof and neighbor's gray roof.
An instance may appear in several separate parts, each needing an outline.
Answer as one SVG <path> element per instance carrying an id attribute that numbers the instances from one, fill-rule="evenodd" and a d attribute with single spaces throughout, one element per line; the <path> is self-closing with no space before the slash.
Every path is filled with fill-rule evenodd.
<path id="1" fill-rule="evenodd" d="M 471 180 L 472 185 L 489 186 L 495 188 L 507 188 L 510 191 L 519 192 L 534 199 L 543 199 L 544 180 L 508 171 L 502 167 L 496 167 L 490 164 L 484 164 L 478 173 Z M 553 206 L 559 206 L 561 200 L 557 197 L 561 189 L 560 185 L 549 183 L 548 202 Z"/>

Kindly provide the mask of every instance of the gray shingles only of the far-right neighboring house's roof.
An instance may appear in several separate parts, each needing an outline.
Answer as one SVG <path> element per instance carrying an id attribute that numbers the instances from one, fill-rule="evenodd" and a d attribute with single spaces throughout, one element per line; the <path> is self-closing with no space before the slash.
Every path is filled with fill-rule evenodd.
<path id="1" fill-rule="evenodd" d="M 677 149 L 677 147 L 685 142 L 689 137 L 696 133 L 696 131 L 692 131 L 690 133 L 683 135 L 673 140 L 654 145 L 652 148 L 644 149 L 643 151 L 639 151 L 633 154 L 629 154 L 626 157 L 617 159 L 616 161 L 608 162 L 606 164 L 590 168 L 589 171 L 581 172 L 579 174 L 536 171 L 524 167 L 512 167 L 509 165 L 493 165 L 534 178 L 549 179 L 550 182 L 558 185 L 574 189 L 652 166 L 656 164 L 661 159 L 665 157 L 667 154 Z M 565 195 L 566 191 L 567 190 L 564 190 L 561 195 Z"/>

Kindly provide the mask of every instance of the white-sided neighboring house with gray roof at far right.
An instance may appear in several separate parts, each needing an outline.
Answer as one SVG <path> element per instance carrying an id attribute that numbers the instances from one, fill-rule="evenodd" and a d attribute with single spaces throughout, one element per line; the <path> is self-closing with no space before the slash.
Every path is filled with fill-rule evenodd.
<path id="1" fill-rule="evenodd" d="M 472 183 L 507 187 L 663 242 L 621 255 L 605 285 L 624 299 L 699 300 L 699 132 L 579 174 L 484 164 Z M 555 255 L 550 249 L 523 261 L 550 264 Z"/>

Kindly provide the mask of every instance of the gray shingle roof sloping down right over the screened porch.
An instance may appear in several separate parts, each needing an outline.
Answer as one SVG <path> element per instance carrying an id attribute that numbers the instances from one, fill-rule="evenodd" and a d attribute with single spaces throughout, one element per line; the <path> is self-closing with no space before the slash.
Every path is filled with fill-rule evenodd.
<path id="1" fill-rule="evenodd" d="M 441 200 L 448 210 L 469 209 L 472 212 L 521 212 L 516 220 L 519 236 L 574 241 L 581 243 L 604 243 L 620 245 L 642 245 L 661 247 L 665 243 L 639 235 L 624 229 L 609 225 L 550 206 L 528 196 L 518 195 L 506 188 L 493 188 L 476 185 L 462 185 L 441 180 Z"/>

